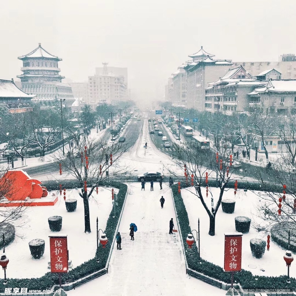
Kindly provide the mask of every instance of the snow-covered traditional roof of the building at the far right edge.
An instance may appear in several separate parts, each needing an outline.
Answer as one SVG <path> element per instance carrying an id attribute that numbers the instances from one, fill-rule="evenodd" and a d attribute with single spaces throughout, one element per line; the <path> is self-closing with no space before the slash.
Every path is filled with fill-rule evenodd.
<path id="1" fill-rule="evenodd" d="M 250 92 L 250 95 L 253 94 L 263 94 L 268 92 L 296 92 L 296 80 L 294 79 L 287 79 L 287 80 L 272 80 L 269 79 L 267 85 L 265 87 L 260 87 L 257 89 L 254 89 L 254 91 Z"/>

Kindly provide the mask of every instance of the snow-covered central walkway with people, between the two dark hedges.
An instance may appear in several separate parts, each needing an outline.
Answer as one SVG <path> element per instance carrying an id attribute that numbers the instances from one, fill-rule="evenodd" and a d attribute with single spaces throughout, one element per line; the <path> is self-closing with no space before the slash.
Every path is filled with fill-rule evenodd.
<path id="1" fill-rule="evenodd" d="M 75 295 L 225 295 L 226 291 L 212 287 L 186 274 L 180 234 L 169 234 L 169 221 L 176 225 L 173 198 L 168 184 L 154 191 L 133 183 L 128 188 L 125 209 L 119 226 L 122 250 L 116 244 L 112 252 L 108 274 L 75 290 Z M 160 207 L 160 197 L 165 203 Z M 135 240 L 129 237 L 129 225 L 135 223 Z"/>

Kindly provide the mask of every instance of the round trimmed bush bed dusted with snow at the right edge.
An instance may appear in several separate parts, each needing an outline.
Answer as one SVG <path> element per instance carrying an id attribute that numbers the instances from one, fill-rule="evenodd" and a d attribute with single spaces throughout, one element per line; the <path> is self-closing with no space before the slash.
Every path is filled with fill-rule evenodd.
<path id="1" fill-rule="evenodd" d="M 288 248 L 288 232 L 290 230 L 290 246 Z M 280 222 L 271 227 L 271 239 L 284 250 L 296 252 L 296 229 L 295 223 Z"/>

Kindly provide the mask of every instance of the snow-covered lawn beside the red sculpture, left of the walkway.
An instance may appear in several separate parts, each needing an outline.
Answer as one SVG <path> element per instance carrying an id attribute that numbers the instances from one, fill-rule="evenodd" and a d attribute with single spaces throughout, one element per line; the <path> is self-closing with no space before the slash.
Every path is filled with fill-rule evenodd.
<path id="1" fill-rule="evenodd" d="M 117 193 L 118 189 L 114 188 Z M 99 187 L 98 195 L 93 192 L 89 200 L 91 233 L 84 233 L 84 210 L 83 200 L 76 190 L 67 190 L 66 199 L 77 199 L 77 209 L 73 213 L 66 210 L 63 193 L 58 194 L 59 200 L 54 206 L 27 207 L 24 217 L 18 221 L 18 225 L 25 223 L 23 228 L 16 228 L 15 240 L 5 247 L 9 258 L 7 277 L 31 278 L 43 276 L 50 261 L 49 236 L 59 233 L 67 234 L 69 259 L 72 260 L 73 268 L 81 263 L 94 258 L 96 252 L 96 217 L 99 218 L 99 228 L 105 230 L 107 219 L 112 210 L 111 188 Z M 52 232 L 49 229 L 47 219 L 51 216 L 62 216 L 62 230 Z M 101 234 L 101 233 L 100 233 Z M 19 236 L 19 237 L 17 237 Z M 22 238 L 21 238 L 22 237 Z M 32 258 L 29 242 L 32 239 L 44 239 L 45 251 L 41 259 Z M 112 239 L 112 238 L 111 238 Z"/>

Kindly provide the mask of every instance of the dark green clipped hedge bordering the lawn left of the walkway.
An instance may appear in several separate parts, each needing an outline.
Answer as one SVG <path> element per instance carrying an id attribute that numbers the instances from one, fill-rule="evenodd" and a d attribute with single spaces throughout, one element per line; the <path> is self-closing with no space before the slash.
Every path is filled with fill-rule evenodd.
<path id="1" fill-rule="evenodd" d="M 118 192 L 118 205 L 116 205 L 117 213 L 121 212 L 123 207 L 123 202 L 127 192 L 127 185 L 119 182 L 112 182 L 112 187 L 119 189 Z M 113 205 L 114 207 L 114 205 Z M 96 255 L 93 259 L 88 260 L 81 265 L 73 268 L 67 274 L 63 274 L 62 276 L 62 284 L 65 284 L 65 281 L 76 281 L 84 276 L 88 276 L 100 269 L 104 268 L 107 263 L 107 259 L 109 256 L 109 252 L 111 250 L 112 239 L 115 235 L 116 226 L 118 223 L 119 215 L 113 218 L 112 208 L 109 218 L 107 220 L 107 225 L 105 229 L 105 233 L 108 238 L 108 244 L 106 248 L 103 249 L 101 245 L 96 250 Z M 93 230 L 96 231 L 96 230 Z M 97 263 L 96 259 L 99 258 L 99 263 Z M 9 276 L 9 272 L 7 274 Z M 40 278 L 31 278 L 31 279 L 7 279 L 8 283 L 4 286 L 3 283 L 0 283 L 0 292 L 4 293 L 5 288 L 16 288 L 16 287 L 26 287 L 28 290 L 30 289 L 51 289 L 54 284 L 58 284 L 58 276 L 56 274 L 52 274 L 51 272 L 46 273 L 44 276 Z"/>

